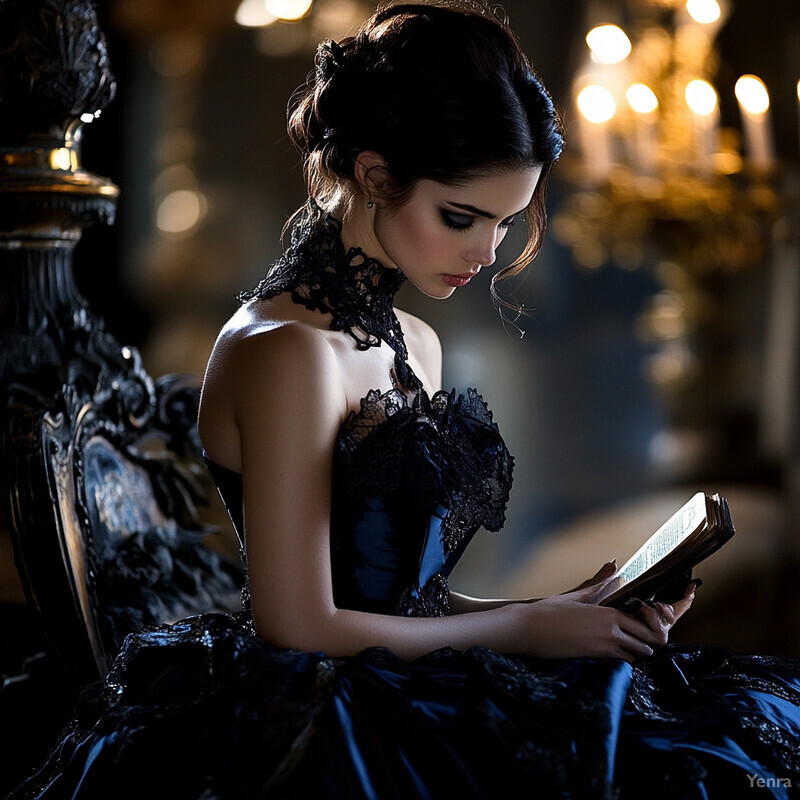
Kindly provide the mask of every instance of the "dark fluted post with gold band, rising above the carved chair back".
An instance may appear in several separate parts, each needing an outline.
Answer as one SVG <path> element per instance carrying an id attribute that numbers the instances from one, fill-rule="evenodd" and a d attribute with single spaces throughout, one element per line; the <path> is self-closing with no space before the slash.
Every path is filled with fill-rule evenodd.
<path id="1" fill-rule="evenodd" d="M 111 224 L 118 189 L 81 168 L 83 126 L 115 92 L 89 0 L 0 0 L 0 376 L 7 395 L 54 398 L 66 383 L 135 376 L 138 357 L 108 335 L 75 288 L 82 231 Z M 80 362 L 75 374 L 76 361 Z"/>

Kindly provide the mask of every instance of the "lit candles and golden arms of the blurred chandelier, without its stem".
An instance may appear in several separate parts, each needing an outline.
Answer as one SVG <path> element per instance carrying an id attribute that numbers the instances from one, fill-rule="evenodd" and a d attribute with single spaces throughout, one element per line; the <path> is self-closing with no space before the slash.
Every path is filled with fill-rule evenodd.
<path id="1" fill-rule="evenodd" d="M 695 270 L 761 263 L 758 222 L 777 209 L 769 94 L 755 75 L 736 82 L 742 129 L 720 125 L 715 37 L 724 0 L 632 0 L 631 37 L 599 24 L 574 81 L 579 188 L 553 221 L 581 266 L 652 263 L 662 228 Z M 673 224 L 672 226 L 670 224 Z M 655 237 L 655 238 L 653 238 Z"/>

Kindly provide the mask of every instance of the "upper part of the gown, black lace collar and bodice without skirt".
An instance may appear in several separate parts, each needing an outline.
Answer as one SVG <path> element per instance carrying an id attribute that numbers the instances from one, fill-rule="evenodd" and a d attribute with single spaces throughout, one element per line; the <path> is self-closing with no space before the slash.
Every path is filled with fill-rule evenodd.
<path id="1" fill-rule="evenodd" d="M 448 612 L 447 578 L 474 533 L 505 519 L 513 459 L 480 395 L 432 398 L 408 366 L 393 301 L 405 280 L 361 250 L 309 202 L 291 244 L 243 299 L 285 291 L 331 315 L 359 349 L 388 344 L 399 387 L 370 391 L 335 443 L 331 559 L 337 606 L 403 615 Z M 241 532 L 241 477 L 209 467 Z M 238 515 L 238 516 L 237 516 Z"/>

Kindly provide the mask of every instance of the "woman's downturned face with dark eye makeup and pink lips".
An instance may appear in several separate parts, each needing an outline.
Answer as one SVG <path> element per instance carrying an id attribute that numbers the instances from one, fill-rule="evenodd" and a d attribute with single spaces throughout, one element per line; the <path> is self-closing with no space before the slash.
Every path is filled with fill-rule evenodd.
<path id="1" fill-rule="evenodd" d="M 375 235 L 390 264 L 424 294 L 444 299 L 494 263 L 511 225 L 524 224 L 541 172 L 520 168 L 458 186 L 417 181 L 399 209 L 376 208 Z"/>

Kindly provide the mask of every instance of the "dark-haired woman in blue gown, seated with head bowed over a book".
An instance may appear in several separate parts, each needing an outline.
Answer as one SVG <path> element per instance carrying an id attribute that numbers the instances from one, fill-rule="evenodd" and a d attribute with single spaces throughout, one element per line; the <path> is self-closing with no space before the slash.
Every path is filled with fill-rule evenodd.
<path id="1" fill-rule="evenodd" d="M 129 637 L 18 796 L 156 775 L 169 797 L 787 796 L 800 671 L 666 646 L 694 584 L 635 613 L 597 604 L 613 564 L 536 601 L 449 590 L 502 526 L 513 460 L 393 300 L 406 279 L 449 297 L 520 218 L 506 272 L 541 243 L 562 139 L 513 34 L 466 0 L 384 4 L 320 45 L 289 131 L 310 199 L 221 332 L 199 416 L 245 611 Z"/>

